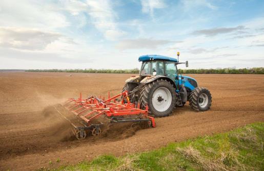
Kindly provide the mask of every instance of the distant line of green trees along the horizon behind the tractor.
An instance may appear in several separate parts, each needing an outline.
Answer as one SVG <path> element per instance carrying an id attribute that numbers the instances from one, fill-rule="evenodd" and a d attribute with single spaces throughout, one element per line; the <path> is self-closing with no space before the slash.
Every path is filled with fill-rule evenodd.
<path id="1" fill-rule="evenodd" d="M 26 70 L 27 72 L 70 72 L 70 73 L 117 73 L 117 74 L 138 74 L 139 69 L 130 69 L 130 70 L 111 70 L 111 69 L 66 69 L 66 70 Z M 191 69 L 191 70 L 181 70 L 181 74 L 264 74 L 264 68 L 243 68 L 243 69 L 234 69 L 234 68 L 225 68 L 225 69 Z"/>

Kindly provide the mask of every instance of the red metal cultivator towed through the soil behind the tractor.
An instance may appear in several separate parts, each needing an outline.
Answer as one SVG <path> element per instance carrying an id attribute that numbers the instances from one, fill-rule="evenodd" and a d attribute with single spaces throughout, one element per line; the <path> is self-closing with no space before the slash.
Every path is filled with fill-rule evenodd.
<path id="1" fill-rule="evenodd" d="M 75 123 L 74 133 L 77 139 L 84 139 L 88 131 L 92 135 L 99 135 L 101 127 L 105 124 L 114 124 L 122 122 L 148 122 L 149 126 L 155 127 L 155 120 L 148 115 L 148 105 L 145 110 L 139 109 L 139 103 L 131 103 L 128 97 L 128 91 L 120 93 L 108 99 L 97 98 L 94 96 L 82 99 L 82 94 L 79 98 L 68 99 L 64 106 L 75 114 L 82 124 L 81 126 Z M 121 97 L 121 99 L 117 99 Z"/>

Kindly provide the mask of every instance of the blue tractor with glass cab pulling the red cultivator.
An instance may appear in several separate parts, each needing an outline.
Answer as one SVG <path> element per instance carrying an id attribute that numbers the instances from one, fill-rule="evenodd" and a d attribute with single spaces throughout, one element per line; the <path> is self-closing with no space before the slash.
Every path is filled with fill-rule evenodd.
<path id="1" fill-rule="evenodd" d="M 177 54 L 179 57 L 179 53 Z M 177 106 L 184 106 L 187 101 L 195 111 L 210 109 L 212 96 L 206 88 L 198 87 L 194 78 L 178 73 L 176 58 L 161 55 L 143 55 L 140 73 L 126 80 L 123 91 L 128 91 L 131 102 L 145 109 L 148 104 L 149 114 L 155 117 L 170 115 Z"/>

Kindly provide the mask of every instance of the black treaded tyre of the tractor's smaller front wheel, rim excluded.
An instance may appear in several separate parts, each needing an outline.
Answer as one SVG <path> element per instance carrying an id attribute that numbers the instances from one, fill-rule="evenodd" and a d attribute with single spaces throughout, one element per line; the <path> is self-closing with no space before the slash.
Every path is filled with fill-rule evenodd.
<path id="1" fill-rule="evenodd" d="M 208 97 L 208 102 L 207 104 L 205 104 L 205 106 L 200 106 L 200 103 L 204 101 L 204 99 L 201 98 L 201 95 L 203 94 L 206 94 L 206 96 Z M 207 90 L 206 88 L 197 87 L 190 93 L 189 102 L 191 108 L 195 111 L 208 111 L 212 104 L 212 95 L 210 91 Z"/>

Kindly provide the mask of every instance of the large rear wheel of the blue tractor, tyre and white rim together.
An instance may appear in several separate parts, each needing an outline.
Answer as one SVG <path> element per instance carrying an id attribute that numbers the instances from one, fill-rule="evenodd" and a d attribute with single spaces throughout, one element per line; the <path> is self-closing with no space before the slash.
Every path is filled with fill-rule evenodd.
<path id="1" fill-rule="evenodd" d="M 176 104 L 176 92 L 173 85 L 163 79 L 148 83 L 140 92 L 140 108 L 149 106 L 149 113 L 156 117 L 168 116 Z"/>

